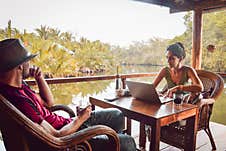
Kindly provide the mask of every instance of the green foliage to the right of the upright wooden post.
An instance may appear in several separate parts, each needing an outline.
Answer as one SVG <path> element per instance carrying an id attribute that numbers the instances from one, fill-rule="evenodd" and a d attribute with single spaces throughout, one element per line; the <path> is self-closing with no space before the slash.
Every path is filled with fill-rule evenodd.
<path id="1" fill-rule="evenodd" d="M 226 72 L 226 11 L 205 14 L 203 17 L 203 64 L 204 69 Z M 215 45 L 214 52 L 206 47 Z"/>

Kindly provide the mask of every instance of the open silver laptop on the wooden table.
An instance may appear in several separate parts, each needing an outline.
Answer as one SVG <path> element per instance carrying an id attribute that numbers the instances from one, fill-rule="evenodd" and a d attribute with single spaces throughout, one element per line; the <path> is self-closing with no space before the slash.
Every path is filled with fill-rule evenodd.
<path id="1" fill-rule="evenodd" d="M 136 82 L 136 81 L 126 81 L 126 85 L 132 95 L 132 97 L 139 100 L 151 102 L 151 103 L 166 103 L 172 101 L 169 97 L 160 97 L 153 84 Z"/>

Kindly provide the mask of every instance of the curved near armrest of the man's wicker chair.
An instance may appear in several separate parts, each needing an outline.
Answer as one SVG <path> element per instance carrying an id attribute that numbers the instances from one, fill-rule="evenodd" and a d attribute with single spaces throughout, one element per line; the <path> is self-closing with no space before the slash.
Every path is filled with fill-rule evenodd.
<path id="1" fill-rule="evenodd" d="M 60 140 L 70 147 L 72 144 L 80 144 L 98 135 L 106 135 L 109 138 L 110 144 L 113 145 L 109 146 L 109 151 L 120 150 L 120 141 L 117 133 L 110 127 L 104 125 L 96 125 L 80 130 L 71 135 L 60 137 Z"/>

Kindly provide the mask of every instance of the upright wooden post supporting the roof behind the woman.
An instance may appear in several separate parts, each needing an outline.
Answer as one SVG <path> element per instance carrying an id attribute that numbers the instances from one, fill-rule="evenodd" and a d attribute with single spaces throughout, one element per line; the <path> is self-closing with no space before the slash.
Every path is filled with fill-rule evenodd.
<path id="1" fill-rule="evenodd" d="M 195 69 L 201 69 L 202 62 L 202 10 L 194 10 L 192 35 L 192 62 Z"/>

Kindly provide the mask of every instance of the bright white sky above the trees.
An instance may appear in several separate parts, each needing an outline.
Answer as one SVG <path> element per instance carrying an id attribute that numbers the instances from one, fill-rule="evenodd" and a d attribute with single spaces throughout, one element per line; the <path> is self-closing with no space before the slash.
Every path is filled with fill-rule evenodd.
<path id="1" fill-rule="evenodd" d="M 128 46 L 150 38 L 173 38 L 185 31 L 185 13 L 132 0 L 0 0 L 0 28 L 35 32 L 41 25 L 77 37 Z"/>

